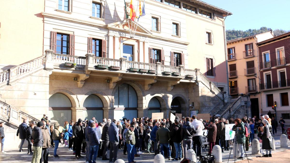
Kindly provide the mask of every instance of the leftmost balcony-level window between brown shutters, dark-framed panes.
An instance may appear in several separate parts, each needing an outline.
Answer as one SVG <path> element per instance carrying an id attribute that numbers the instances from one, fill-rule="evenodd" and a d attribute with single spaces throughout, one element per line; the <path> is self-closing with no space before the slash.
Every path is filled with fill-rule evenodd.
<path id="1" fill-rule="evenodd" d="M 56 53 L 69 55 L 70 36 L 57 33 L 56 36 Z"/>

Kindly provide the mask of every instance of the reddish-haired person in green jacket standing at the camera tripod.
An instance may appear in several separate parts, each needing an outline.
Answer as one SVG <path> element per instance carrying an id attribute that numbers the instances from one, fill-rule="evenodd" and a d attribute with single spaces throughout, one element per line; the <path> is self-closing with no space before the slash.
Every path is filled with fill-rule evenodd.
<path id="1" fill-rule="evenodd" d="M 235 130 L 238 128 L 236 132 L 238 132 L 238 135 L 236 135 L 235 140 L 238 142 L 238 149 L 241 153 L 241 156 L 238 157 L 240 160 L 244 160 L 244 147 L 243 144 L 246 143 L 246 136 L 245 136 L 245 124 L 242 122 L 240 118 L 236 118 L 234 120 L 235 125 L 233 126 L 232 130 Z M 234 142 L 233 142 L 234 143 Z"/>

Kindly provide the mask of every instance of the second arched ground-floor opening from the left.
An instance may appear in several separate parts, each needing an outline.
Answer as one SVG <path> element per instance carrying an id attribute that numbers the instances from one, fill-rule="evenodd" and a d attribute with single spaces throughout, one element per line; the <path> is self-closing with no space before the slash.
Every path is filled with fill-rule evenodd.
<path id="1" fill-rule="evenodd" d="M 98 122 L 103 122 L 104 111 L 103 102 L 97 95 L 89 95 L 84 101 L 84 117 L 86 119 L 91 119 L 95 117 Z"/>

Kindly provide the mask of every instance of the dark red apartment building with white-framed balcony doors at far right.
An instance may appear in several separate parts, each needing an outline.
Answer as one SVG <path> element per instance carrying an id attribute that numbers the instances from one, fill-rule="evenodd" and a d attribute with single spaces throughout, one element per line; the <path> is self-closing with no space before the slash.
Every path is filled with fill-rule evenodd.
<path id="1" fill-rule="evenodd" d="M 290 32 L 257 43 L 260 61 L 260 91 L 263 114 L 276 101 L 277 119 L 290 122 Z"/>

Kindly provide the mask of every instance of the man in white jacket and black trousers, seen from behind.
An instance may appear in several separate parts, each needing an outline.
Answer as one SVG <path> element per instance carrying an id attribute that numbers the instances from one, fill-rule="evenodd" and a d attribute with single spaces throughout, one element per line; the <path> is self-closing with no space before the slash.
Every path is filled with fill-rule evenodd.
<path id="1" fill-rule="evenodd" d="M 202 135 L 203 135 L 203 129 L 204 125 L 202 124 L 202 121 L 197 120 L 196 115 L 193 115 L 191 124 L 194 126 L 194 128 L 197 128 L 197 126 L 200 126 L 198 131 L 196 133 L 193 133 L 193 150 L 197 154 L 196 156 L 200 156 L 202 152 Z"/>

